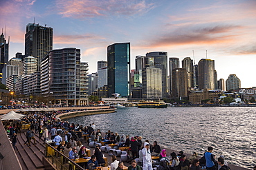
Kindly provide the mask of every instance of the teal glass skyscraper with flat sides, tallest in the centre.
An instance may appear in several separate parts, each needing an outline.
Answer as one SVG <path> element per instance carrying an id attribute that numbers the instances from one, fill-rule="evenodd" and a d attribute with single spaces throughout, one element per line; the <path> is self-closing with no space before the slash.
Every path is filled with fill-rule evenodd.
<path id="1" fill-rule="evenodd" d="M 114 43 L 107 47 L 108 96 L 129 96 L 130 43 Z"/>

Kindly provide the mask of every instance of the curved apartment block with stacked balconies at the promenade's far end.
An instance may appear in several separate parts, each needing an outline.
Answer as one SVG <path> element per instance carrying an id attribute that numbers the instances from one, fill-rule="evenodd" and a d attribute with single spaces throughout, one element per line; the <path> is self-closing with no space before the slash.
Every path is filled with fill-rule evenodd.
<path id="1" fill-rule="evenodd" d="M 51 66 L 51 67 L 50 67 Z M 86 65 L 82 65 L 86 68 Z M 83 74 L 86 74 L 86 69 Z M 41 89 L 42 96 L 48 97 L 60 105 L 87 105 L 88 98 L 81 95 L 80 49 L 67 47 L 52 50 L 42 59 Z M 86 90 L 86 89 L 84 89 Z"/>

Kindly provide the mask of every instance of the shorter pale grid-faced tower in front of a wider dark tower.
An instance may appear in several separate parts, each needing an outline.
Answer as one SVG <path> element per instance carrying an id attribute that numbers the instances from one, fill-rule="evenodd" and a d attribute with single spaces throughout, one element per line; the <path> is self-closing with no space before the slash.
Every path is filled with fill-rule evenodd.
<path id="1" fill-rule="evenodd" d="M 143 69 L 143 99 L 163 98 L 162 92 L 162 70 L 154 67 L 145 67 Z"/>

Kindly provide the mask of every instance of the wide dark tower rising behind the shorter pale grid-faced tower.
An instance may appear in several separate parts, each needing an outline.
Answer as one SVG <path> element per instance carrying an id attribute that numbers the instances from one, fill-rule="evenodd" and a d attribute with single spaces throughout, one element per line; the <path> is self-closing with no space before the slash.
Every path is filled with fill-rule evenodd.
<path id="1" fill-rule="evenodd" d="M 162 93 L 163 98 L 168 97 L 167 89 L 167 52 L 148 52 L 146 56 L 154 57 L 154 67 L 162 70 Z"/>

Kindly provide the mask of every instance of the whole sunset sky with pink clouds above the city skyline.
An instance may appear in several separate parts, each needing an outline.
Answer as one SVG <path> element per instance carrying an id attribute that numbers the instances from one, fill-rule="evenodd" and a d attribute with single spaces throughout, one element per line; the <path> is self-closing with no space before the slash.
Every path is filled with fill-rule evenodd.
<path id="1" fill-rule="evenodd" d="M 256 0 L 0 0 L 0 6 L 9 59 L 24 54 L 26 25 L 35 17 L 53 28 L 53 49 L 81 49 L 89 73 L 107 61 L 108 45 L 130 42 L 131 69 L 135 56 L 147 52 L 167 52 L 180 63 L 207 57 L 218 79 L 237 74 L 241 87 L 256 87 Z"/>

